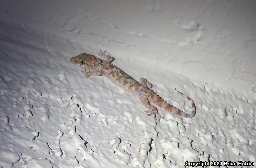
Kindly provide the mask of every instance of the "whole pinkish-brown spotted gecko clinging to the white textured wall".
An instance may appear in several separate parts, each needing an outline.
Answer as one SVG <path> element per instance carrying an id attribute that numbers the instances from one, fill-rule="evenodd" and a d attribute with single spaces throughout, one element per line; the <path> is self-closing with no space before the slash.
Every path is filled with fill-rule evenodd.
<path id="1" fill-rule="evenodd" d="M 183 117 L 183 118 L 191 118 L 196 113 L 196 106 L 192 99 L 190 99 L 187 95 L 179 92 L 182 96 L 186 97 L 192 105 L 192 112 L 185 113 L 180 109 L 172 106 L 171 104 L 164 101 L 160 96 L 158 96 L 152 88 L 152 84 L 148 82 L 145 78 L 140 78 L 139 82 L 133 79 L 131 76 L 127 75 L 124 71 L 120 68 L 113 65 L 111 62 L 114 60 L 113 57 L 110 55 L 106 55 L 106 50 L 104 52 L 96 52 L 98 57 L 95 57 L 91 54 L 80 53 L 75 57 L 70 58 L 70 62 L 82 67 L 84 70 L 81 71 L 84 76 L 87 78 L 89 76 L 106 76 L 112 82 L 123 88 L 125 91 L 132 93 L 139 97 L 140 102 L 148 108 L 147 115 L 154 116 L 156 120 L 156 115 L 160 118 L 163 118 L 158 113 L 156 107 L 152 106 L 151 103 L 154 105 L 164 109 L 165 111 L 172 113 L 174 115 Z"/>

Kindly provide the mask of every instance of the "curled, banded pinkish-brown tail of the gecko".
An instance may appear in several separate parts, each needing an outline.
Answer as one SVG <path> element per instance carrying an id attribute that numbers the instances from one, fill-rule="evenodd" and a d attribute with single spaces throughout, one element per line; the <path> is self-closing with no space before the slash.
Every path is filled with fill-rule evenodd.
<path id="1" fill-rule="evenodd" d="M 176 90 L 176 88 L 175 88 L 175 90 Z M 182 118 L 191 118 L 191 117 L 193 117 L 196 113 L 196 106 L 195 106 L 194 101 L 192 99 L 190 99 L 187 95 L 185 95 L 185 94 L 183 94 L 179 91 L 177 91 L 177 92 L 180 93 L 182 96 L 186 97 L 191 102 L 192 111 L 190 113 L 185 113 L 185 112 L 181 111 L 180 109 L 178 109 L 176 107 L 173 107 L 172 105 L 168 104 L 167 102 L 165 102 L 163 99 L 161 99 L 157 95 L 155 95 L 155 97 L 153 99 L 153 103 L 156 106 L 164 109 L 165 111 L 168 111 L 169 113 L 175 114 L 175 115 L 180 116 Z"/>

